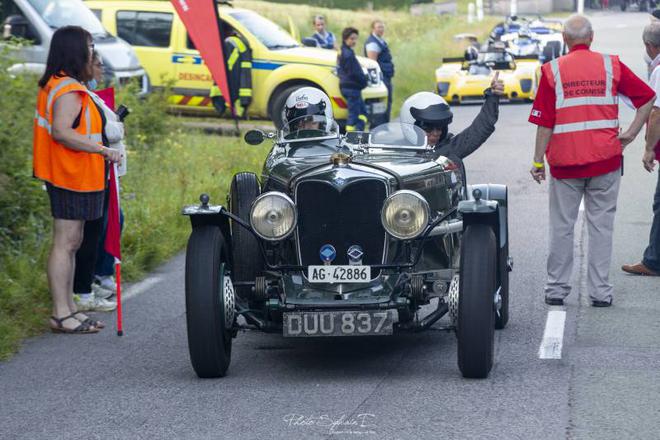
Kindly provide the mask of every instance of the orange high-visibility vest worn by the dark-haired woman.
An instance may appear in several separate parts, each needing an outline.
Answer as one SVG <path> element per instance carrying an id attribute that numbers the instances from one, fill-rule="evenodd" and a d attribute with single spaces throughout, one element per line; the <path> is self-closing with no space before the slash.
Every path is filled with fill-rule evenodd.
<path id="1" fill-rule="evenodd" d="M 105 189 L 105 159 L 100 154 L 73 150 L 56 142 L 52 136 L 53 107 L 66 93 L 79 93 L 82 98 L 80 124 L 75 130 L 94 142 L 101 143 L 103 122 L 87 93 L 87 88 L 69 76 L 53 75 L 45 87 L 39 89 L 37 111 L 34 115 L 32 144 L 33 172 L 38 179 L 53 186 L 77 192 Z"/>

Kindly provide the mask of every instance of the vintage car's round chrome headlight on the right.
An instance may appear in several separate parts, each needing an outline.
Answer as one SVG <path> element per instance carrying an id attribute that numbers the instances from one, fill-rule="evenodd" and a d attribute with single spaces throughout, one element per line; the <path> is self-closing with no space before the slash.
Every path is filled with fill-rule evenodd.
<path id="1" fill-rule="evenodd" d="M 415 191 L 397 191 L 385 199 L 380 218 L 392 237 L 410 240 L 424 232 L 428 225 L 429 204 Z"/>

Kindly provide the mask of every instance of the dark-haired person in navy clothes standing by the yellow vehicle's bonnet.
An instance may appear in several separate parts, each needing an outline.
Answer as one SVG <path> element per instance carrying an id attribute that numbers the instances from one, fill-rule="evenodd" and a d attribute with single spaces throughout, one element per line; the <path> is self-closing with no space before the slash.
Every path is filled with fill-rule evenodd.
<path id="1" fill-rule="evenodd" d="M 362 89 L 367 87 L 367 76 L 353 50 L 358 35 L 358 30 L 352 27 L 342 31 L 341 52 L 337 57 L 339 89 L 348 104 L 346 131 L 363 131 L 368 121 L 367 106 L 362 99 Z"/>

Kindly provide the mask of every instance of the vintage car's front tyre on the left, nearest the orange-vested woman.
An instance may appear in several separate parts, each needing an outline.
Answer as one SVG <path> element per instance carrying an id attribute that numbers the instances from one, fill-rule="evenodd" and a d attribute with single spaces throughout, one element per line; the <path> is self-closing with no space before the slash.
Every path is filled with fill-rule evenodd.
<path id="1" fill-rule="evenodd" d="M 235 306 L 225 249 L 212 225 L 193 229 L 186 249 L 188 350 L 201 378 L 223 377 L 231 361 Z"/>

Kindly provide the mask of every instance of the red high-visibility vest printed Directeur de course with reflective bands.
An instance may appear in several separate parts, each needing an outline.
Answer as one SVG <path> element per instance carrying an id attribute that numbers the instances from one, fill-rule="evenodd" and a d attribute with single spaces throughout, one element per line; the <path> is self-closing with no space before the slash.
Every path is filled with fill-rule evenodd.
<path id="1" fill-rule="evenodd" d="M 556 94 L 555 126 L 546 150 L 548 163 L 559 167 L 587 165 L 620 156 L 619 58 L 576 50 L 542 69 Z"/>

